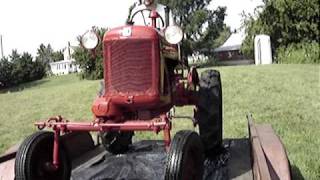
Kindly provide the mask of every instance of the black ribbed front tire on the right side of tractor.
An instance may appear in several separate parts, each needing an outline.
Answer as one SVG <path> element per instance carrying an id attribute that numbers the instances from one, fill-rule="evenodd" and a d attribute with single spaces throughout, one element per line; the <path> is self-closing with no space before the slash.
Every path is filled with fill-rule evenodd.
<path id="1" fill-rule="evenodd" d="M 190 130 L 179 131 L 173 138 L 165 169 L 165 180 L 201 180 L 204 152 L 199 135 Z"/>

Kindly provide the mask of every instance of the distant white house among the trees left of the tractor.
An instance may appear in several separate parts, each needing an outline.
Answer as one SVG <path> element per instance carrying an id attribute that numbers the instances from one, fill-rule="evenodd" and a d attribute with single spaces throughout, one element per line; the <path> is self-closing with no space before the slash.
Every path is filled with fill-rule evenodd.
<path id="1" fill-rule="evenodd" d="M 63 60 L 50 63 L 51 72 L 54 75 L 64 75 L 79 72 L 79 66 L 75 64 L 75 60 L 71 57 L 73 49 L 70 45 L 63 52 Z"/>

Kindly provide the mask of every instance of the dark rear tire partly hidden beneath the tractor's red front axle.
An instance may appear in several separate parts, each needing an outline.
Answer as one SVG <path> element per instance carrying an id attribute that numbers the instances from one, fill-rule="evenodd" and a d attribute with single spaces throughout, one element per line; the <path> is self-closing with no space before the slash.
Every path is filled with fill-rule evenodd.
<path id="1" fill-rule="evenodd" d="M 110 131 L 100 133 L 101 143 L 112 154 L 123 154 L 132 144 L 133 132 Z"/>

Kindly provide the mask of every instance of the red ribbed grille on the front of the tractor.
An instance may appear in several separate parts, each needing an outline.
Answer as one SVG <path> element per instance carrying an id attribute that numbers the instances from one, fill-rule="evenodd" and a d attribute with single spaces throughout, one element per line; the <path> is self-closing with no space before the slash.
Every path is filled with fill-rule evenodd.
<path id="1" fill-rule="evenodd" d="M 152 41 L 117 40 L 106 42 L 107 91 L 123 93 L 145 92 L 152 86 Z"/>

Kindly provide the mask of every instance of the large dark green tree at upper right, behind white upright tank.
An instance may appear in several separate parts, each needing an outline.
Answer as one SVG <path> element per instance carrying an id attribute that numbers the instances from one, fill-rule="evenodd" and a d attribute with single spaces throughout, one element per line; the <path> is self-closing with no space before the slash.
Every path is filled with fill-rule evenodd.
<path id="1" fill-rule="evenodd" d="M 319 0 L 264 0 L 257 14 L 244 14 L 246 39 L 242 51 L 253 57 L 257 34 L 271 37 L 273 51 L 297 43 L 319 43 Z"/>

